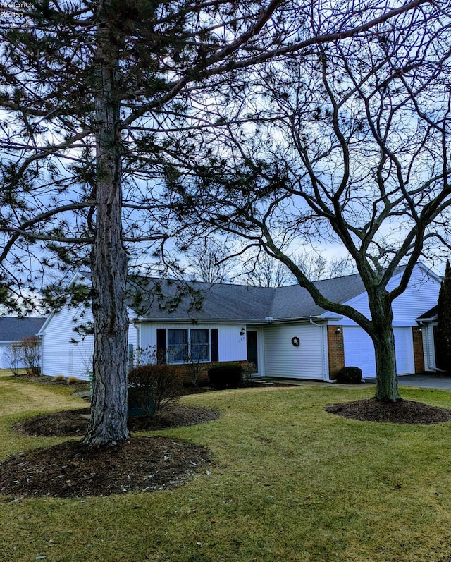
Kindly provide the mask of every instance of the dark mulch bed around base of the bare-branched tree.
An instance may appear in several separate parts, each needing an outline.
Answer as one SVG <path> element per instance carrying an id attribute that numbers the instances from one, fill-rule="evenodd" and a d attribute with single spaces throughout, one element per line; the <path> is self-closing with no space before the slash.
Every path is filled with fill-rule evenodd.
<path id="1" fill-rule="evenodd" d="M 401 400 L 381 402 L 376 398 L 356 400 L 326 406 L 326 412 L 361 422 L 390 422 L 397 424 L 437 424 L 451 421 L 451 411 L 420 402 Z"/>

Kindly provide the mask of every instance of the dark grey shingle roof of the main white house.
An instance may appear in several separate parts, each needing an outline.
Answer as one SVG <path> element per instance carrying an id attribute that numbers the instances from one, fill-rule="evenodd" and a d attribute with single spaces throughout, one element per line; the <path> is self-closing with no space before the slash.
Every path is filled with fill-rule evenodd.
<path id="1" fill-rule="evenodd" d="M 337 303 L 345 303 L 364 292 L 359 275 L 348 275 L 335 279 L 316 281 L 326 298 Z M 175 295 L 178 288 L 190 286 L 202 295 L 202 308 L 192 307 L 192 297 L 185 296 L 171 312 L 159 307 L 155 293 L 161 292 L 165 298 Z M 156 287 L 159 290 L 156 291 Z M 141 280 L 138 294 L 142 302 L 137 305 L 132 299 L 128 305 L 140 317 L 161 320 L 218 320 L 222 322 L 264 322 L 266 317 L 274 320 L 317 317 L 326 312 L 317 306 L 307 289 L 299 285 L 278 288 L 232 285 L 228 283 L 201 283 L 167 281 L 159 279 Z M 163 299 L 165 300 L 165 299 Z"/>

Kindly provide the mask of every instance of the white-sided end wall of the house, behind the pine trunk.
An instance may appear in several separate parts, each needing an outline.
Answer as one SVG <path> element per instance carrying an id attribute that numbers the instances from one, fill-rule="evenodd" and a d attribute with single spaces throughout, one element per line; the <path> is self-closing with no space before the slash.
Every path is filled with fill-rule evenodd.
<path id="1" fill-rule="evenodd" d="M 73 331 L 74 317 L 78 317 L 81 310 L 64 308 L 51 317 L 42 336 L 42 374 L 56 377 L 77 377 L 89 380 L 92 369 L 92 352 L 94 350 L 94 336 L 86 336 L 78 343 L 70 343 L 72 338 L 79 339 Z M 85 311 L 82 322 L 92 320 L 90 310 Z M 130 325 L 128 330 L 129 343 L 136 346 L 136 329 Z"/>

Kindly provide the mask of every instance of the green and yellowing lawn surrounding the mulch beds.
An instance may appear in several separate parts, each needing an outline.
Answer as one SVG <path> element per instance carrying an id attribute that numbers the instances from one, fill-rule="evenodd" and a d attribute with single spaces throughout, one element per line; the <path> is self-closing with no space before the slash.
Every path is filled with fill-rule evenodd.
<path id="1" fill-rule="evenodd" d="M 401 390 L 404 398 L 451 409 L 447 391 Z M 58 442 L 15 436 L 9 426 L 24 415 L 82 405 L 69 392 L 0 378 L 0 458 Z M 449 562 L 451 424 L 373 424 L 324 411 L 372 393 L 301 386 L 186 396 L 223 416 L 159 433 L 208 446 L 209 473 L 151 494 L 0 499 L 0 557 Z"/>

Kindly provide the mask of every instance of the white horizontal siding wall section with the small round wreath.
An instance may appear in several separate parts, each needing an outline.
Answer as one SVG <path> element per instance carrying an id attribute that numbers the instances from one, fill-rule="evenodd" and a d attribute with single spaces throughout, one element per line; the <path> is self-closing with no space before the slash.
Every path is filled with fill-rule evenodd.
<path id="1" fill-rule="evenodd" d="M 326 326 L 282 324 L 264 329 L 266 377 L 323 380 L 327 378 L 324 347 Z M 292 345 L 293 337 L 299 346 Z"/>

